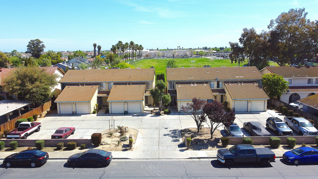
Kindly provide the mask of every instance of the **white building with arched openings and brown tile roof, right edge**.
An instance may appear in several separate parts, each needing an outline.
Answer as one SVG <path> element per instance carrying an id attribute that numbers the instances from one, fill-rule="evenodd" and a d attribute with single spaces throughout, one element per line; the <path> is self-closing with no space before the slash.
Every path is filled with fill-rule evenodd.
<path id="1" fill-rule="evenodd" d="M 289 82 L 289 91 L 280 97 L 287 104 L 318 93 L 318 66 L 265 67 L 260 72 L 283 76 Z"/>

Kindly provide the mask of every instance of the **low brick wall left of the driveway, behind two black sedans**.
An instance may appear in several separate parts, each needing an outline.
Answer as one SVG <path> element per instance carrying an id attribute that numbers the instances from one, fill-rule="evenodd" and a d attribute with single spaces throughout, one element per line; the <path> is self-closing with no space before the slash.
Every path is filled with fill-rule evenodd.
<path id="1" fill-rule="evenodd" d="M 14 139 L 0 140 L 4 141 L 5 147 L 10 147 L 9 143 Z M 28 139 L 16 139 L 18 141 L 18 147 L 35 147 L 35 141 L 37 140 L 28 140 Z M 92 146 L 92 141 L 90 139 L 45 139 L 45 147 L 56 147 L 56 144 L 59 142 L 64 142 L 66 146 L 67 142 L 76 142 L 77 147 L 81 144 L 86 144 L 86 147 Z"/>

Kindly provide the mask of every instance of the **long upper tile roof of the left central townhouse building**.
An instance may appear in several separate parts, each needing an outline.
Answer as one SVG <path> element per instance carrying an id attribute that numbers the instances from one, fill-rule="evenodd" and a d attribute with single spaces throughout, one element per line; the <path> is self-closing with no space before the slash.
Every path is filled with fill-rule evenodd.
<path id="1" fill-rule="evenodd" d="M 68 70 L 60 82 L 154 81 L 154 68 Z"/>

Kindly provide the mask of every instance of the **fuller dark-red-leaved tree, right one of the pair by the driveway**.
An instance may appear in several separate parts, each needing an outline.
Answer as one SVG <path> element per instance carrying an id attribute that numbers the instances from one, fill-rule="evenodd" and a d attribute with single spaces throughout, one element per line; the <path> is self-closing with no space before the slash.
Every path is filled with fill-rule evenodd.
<path id="1" fill-rule="evenodd" d="M 224 113 L 222 111 L 222 104 L 217 101 L 214 101 L 213 103 L 204 104 L 202 111 L 203 111 L 203 114 L 200 116 L 200 118 L 208 117 L 210 121 L 211 139 L 213 138 L 214 131 L 219 126 L 221 126 L 222 124 L 225 126 L 230 126 L 231 124 L 233 124 L 235 119 L 235 113 L 234 112 Z"/>

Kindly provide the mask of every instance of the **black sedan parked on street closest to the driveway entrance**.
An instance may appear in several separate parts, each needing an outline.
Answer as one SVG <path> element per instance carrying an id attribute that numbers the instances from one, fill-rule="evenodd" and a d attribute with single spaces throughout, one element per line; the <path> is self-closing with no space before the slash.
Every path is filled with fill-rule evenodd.
<path id="1" fill-rule="evenodd" d="M 72 167 L 77 165 L 96 165 L 97 167 L 103 167 L 105 164 L 112 161 L 113 156 L 111 152 L 106 152 L 100 149 L 90 149 L 83 153 L 71 155 L 67 159 L 67 164 Z"/>

